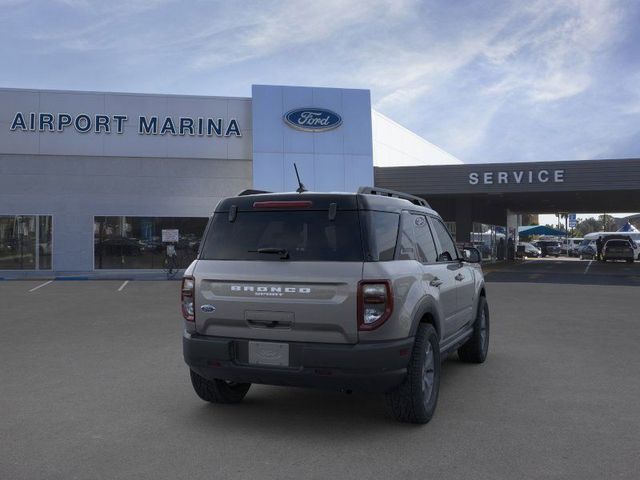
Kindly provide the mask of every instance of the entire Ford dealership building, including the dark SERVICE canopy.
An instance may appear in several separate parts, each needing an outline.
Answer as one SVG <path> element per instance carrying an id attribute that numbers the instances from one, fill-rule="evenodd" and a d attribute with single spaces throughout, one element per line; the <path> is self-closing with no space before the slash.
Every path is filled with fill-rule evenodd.
<path id="1" fill-rule="evenodd" d="M 458 242 L 495 245 L 527 212 L 640 210 L 638 159 L 463 164 L 372 110 L 368 90 L 0 89 L 0 278 L 157 271 L 168 242 L 186 266 L 221 198 L 295 190 L 294 162 L 309 190 L 422 196 Z"/>

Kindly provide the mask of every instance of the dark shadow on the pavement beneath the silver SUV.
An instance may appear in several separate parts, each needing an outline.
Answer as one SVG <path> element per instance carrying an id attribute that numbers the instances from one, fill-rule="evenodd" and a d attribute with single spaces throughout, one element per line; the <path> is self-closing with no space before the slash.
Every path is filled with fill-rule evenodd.
<path id="1" fill-rule="evenodd" d="M 439 403 L 435 418 L 451 407 L 448 396 L 464 385 L 464 376 L 477 376 L 474 366 L 455 354 L 442 364 Z M 269 435 L 304 436 L 318 441 L 341 436 L 380 435 L 412 430 L 420 425 L 395 421 L 386 410 L 384 394 L 341 393 L 293 387 L 253 385 L 239 405 L 194 404 L 185 412 L 191 428 L 268 432 Z M 384 427 L 383 430 L 380 430 Z"/>

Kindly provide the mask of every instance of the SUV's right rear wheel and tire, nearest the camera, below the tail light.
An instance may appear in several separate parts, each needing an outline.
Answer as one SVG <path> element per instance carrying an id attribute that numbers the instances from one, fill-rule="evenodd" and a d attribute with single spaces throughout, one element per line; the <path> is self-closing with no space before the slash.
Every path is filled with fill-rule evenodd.
<path id="1" fill-rule="evenodd" d="M 440 342 L 432 325 L 418 326 L 407 376 L 387 393 L 387 409 L 399 422 L 427 423 L 433 417 L 440 390 Z"/>

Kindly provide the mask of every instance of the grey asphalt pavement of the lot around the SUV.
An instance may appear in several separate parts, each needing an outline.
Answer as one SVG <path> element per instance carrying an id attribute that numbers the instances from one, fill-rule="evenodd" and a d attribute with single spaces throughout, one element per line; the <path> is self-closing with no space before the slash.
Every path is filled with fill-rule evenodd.
<path id="1" fill-rule="evenodd" d="M 587 265 L 490 273 L 488 360 L 445 361 L 425 426 L 377 396 L 202 402 L 178 282 L 0 282 L 0 478 L 637 479 L 640 264 Z"/>

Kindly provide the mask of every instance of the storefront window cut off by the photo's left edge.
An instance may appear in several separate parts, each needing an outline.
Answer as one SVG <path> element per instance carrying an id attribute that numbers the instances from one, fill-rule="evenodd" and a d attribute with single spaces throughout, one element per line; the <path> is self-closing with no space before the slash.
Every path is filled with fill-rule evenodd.
<path id="1" fill-rule="evenodd" d="M 0 270 L 50 270 L 50 215 L 0 215 Z"/>

